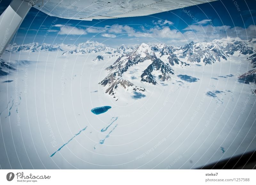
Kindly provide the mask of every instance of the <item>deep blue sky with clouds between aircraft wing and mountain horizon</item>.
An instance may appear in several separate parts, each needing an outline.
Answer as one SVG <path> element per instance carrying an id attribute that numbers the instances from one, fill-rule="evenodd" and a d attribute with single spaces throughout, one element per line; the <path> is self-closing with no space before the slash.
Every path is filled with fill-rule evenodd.
<path id="1" fill-rule="evenodd" d="M 0 2 L 1 13 L 9 2 Z M 91 40 L 112 46 L 142 42 L 182 45 L 227 36 L 256 37 L 255 0 L 215 1 L 136 18 L 92 21 L 58 18 L 52 23 L 55 19 L 31 8 L 12 43 L 78 44 Z"/>

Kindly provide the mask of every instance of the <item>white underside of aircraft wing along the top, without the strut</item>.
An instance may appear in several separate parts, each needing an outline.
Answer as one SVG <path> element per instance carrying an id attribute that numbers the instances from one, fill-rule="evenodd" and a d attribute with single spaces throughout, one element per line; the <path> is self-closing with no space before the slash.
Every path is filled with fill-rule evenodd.
<path id="1" fill-rule="evenodd" d="M 37 1 L 34 8 L 49 16 L 92 20 L 146 16 L 212 1 L 215 0 L 44 0 Z"/>

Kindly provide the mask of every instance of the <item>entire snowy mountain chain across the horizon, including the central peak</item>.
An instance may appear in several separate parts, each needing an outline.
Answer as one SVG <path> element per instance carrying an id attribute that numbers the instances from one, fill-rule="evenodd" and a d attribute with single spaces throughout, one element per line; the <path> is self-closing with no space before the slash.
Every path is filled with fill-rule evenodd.
<path id="1" fill-rule="evenodd" d="M 230 41 L 231 40 L 231 41 Z M 247 60 L 256 67 L 256 39 L 248 41 L 237 39 L 218 39 L 212 42 L 190 42 L 184 46 L 168 46 L 157 44 L 148 46 L 142 43 L 138 46 L 121 45 L 118 47 L 106 46 L 99 42 L 87 41 L 78 45 L 65 44 L 40 44 L 30 43 L 24 45 L 9 45 L 6 52 L 39 52 L 39 51 L 58 51 L 61 55 L 84 55 L 97 53 L 96 60 L 104 60 L 102 55 L 109 57 L 119 56 L 118 59 L 106 68 L 108 75 L 99 83 L 106 86 L 106 93 L 115 98 L 116 89 L 119 87 L 130 92 L 145 91 L 141 85 L 136 85 L 129 79 L 124 78 L 124 73 L 131 67 L 140 65 L 144 69 L 140 74 L 136 74 L 140 82 L 156 85 L 159 82 L 168 81 L 174 75 L 172 67 L 175 65 L 189 66 L 190 63 L 200 63 L 210 65 L 221 62 L 234 55 L 248 55 Z M 142 65 L 143 64 L 143 65 Z M 145 64 L 145 65 L 144 65 Z M 1 61 L 1 75 L 6 75 L 3 70 L 8 68 L 4 61 Z M 244 83 L 255 83 L 256 69 L 239 76 L 239 81 Z M 254 81 L 253 81 L 254 80 Z"/>

